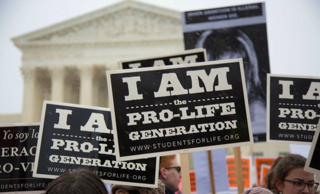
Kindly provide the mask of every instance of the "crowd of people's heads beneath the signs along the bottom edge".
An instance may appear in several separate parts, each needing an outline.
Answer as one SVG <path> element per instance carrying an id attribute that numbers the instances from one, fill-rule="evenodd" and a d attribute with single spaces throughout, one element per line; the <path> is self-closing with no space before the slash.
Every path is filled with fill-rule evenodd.
<path id="1" fill-rule="evenodd" d="M 243 194 L 318 194 L 319 177 L 304 171 L 306 158 L 298 154 L 280 156 L 274 160 L 262 187 Z M 105 184 L 89 168 L 78 168 L 54 179 L 45 194 L 175 194 L 179 192 L 181 168 L 176 155 L 160 157 L 157 188 Z"/>

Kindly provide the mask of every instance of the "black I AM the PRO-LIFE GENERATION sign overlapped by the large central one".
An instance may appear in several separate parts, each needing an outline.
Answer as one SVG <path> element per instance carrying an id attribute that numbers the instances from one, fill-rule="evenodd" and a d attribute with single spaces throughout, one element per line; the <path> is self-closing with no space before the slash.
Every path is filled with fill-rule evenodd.
<path id="1" fill-rule="evenodd" d="M 106 183 L 158 187 L 159 157 L 116 161 L 110 109 L 44 101 L 33 177 L 89 167 Z"/>

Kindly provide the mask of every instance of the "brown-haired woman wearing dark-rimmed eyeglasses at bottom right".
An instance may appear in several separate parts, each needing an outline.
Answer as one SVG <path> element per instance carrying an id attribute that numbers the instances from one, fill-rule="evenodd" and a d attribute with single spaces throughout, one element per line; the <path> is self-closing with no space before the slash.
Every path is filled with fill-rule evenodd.
<path id="1" fill-rule="evenodd" d="M 298 154 L 278 157 L 264 178 L 265 186 L 279 194 L 314 194 L 319 183 L 314 174 L 304 171 L 305 162 Z"/>

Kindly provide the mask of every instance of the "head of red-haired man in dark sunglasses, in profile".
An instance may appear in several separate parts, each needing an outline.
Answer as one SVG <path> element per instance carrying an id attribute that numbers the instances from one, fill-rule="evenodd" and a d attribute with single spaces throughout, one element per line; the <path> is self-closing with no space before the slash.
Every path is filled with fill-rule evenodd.
<path id="1" fill-rule="evenodd" d="M 166 194 L 179 191 L 181 167 L 176 155 L 161 156 L 159 164 L 159 179 L 165 185 Z"/>

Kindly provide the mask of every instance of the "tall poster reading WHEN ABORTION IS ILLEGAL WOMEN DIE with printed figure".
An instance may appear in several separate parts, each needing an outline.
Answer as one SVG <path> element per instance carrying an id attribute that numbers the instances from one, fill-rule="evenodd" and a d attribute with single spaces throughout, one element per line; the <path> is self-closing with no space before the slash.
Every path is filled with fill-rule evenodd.
<path id="1" fill-rule="evenodd" d="M 265 3 L 182 13 L 185 49 L 204 48 L 208 61 L 242 58 L 255 142 L 266 141 L 270 73 Z"/>

